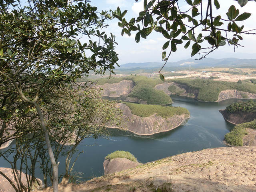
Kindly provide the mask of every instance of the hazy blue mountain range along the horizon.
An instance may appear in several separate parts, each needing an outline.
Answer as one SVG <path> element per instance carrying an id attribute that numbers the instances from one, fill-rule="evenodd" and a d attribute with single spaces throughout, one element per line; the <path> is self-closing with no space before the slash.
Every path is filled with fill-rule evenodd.
<path id="1" fill-rule="evenodd" d="M 136 68 L 160 68 L 164 62 L 146 62 L 146 63 L 126 63 L 120 66 L 120 70 Z M 256 68 L 256 59 L 238 59 L 238 58 L 203 58 L 201 60 L 186 59 L 178 62 L 167 62 L 165 68 L 169 67 L 186 67 L 203 68 L 203 67 L 252 67 Z"/>

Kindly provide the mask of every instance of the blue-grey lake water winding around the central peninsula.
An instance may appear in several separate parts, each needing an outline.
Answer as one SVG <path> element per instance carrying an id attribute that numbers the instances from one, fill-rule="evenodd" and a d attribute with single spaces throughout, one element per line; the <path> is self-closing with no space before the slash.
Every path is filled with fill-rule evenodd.
<path id="1" fill-rule="evenodd" d="M 153 136 L 136 136 L 130 132 L 110 130 L 112 136 L 109 139 L 87 138 L 78 147 L 78 151 L 84 150 L 84 153 L 78 157 L 74 171 L 84 173 L 84 178 L 102 176 L 104 157 L 116 150 L 129 151 L 139 162 L 146 163 L 184 152 L 226 147 L 222 141 L 233 125 L 226 122 L 218 110 L 238 99 L 198 102 L 194 98 L 182 96 L 173 95 L 171 98 L 173 106 L 187 108 L 190 112 L 190 119 L 184 125 Z M 58 161 L 61 173 L 65 166 L 64 159 Z M 0 166 L 8 165 L 1 159 Z M 37 176 L 42 178 L 40 172 Z"/>

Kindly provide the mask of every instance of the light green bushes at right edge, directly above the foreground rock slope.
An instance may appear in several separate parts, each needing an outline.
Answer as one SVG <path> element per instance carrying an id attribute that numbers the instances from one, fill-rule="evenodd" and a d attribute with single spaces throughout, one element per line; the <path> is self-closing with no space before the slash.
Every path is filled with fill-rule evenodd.
<path id="1" fill-rule="evenodd" d="M 226 142 L 234 146 L 243 146 L 244 135 L 247 134 L 246 128 L 256 129 L 256 119 L 236 125 L 229 133 L 225 135 Z"/>

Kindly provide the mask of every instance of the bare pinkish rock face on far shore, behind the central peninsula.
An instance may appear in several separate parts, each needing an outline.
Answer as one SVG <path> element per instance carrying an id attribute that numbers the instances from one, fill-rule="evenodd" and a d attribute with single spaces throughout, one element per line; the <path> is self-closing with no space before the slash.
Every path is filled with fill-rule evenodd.
<path id="1" fill-rule="evenodd" d="M 122 80 L 119 83 L 106 83 L 104 85 L 99 85 L 97 87 L 103 89 L 102 96 L 119 97 L 120 95 L 127 95 L 130 92 L 132 92 L 134 86 L 135 83 L 133 81 Z"/>

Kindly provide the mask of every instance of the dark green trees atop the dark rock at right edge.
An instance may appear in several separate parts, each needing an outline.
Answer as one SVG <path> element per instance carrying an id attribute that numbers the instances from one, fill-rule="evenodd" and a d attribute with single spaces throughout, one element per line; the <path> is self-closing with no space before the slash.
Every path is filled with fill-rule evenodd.
<path id="1" fill-rule="evenodd" d="M 234 102 L 227 106 L 226 110 L 228 110 L 230 113 L 238 111 L 256 112 L 256 102 L 252 100 L 248 102 Z"/>

